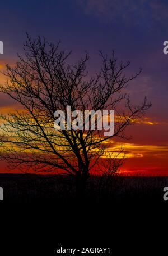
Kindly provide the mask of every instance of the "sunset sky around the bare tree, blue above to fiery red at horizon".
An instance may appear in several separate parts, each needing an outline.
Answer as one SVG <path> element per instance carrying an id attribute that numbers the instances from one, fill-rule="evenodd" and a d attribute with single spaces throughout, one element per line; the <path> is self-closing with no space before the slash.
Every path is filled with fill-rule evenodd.
<path id="1" fill-rule="evenodd" d="M 163 42 L 168 40 L 168 2 L 165 0 L 48 0 L 3 1 L 1 3 L 0 70 L 9 62 L 14 65 L 22 54 L 26 32 L 31 37 L 45 36 L 50 42 L 62 42 L 72 50 L 72 61 L 85 50 L 90 55 L 89 71 L 99 68 L 98 50 L 119 60 L 130 61 L 128 74 L 139 67 L 142 73 L 127 88 L 133 102 L 144 96 L 152 101 L 146 116 L 130 127 L 131 140 L 111 140 L 109 150 L 125 145 L 127 160 L 123 174 L 168 175 L 168 55 Z M 4 83 L 0 75 L 0 83 Z M 17 109 L 15 102 L 0 95 L 0 111 Z M 1 164 L 0 172 L 7 172 Z"/>

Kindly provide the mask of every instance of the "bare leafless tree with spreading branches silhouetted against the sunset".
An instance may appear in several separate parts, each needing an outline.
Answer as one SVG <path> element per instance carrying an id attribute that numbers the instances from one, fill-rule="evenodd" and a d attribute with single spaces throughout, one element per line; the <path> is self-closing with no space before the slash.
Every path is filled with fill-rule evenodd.
<path id="1" fill-rule="evenodd" d="M 27 35 L 25 56 L 18 56 L 15 68 L 6 65 L 7 83 L 0 91 L 22 105 L 22 111 L 1 115 L 1 159 L 19 168 L 34 172 L 62 172 L 73 176 L 77 194 L 85 191 L 90 170 L 104 154 L 102 131 L 54 129 L 55 110 L 115 110 L 115 132 L 111 137 L 125 138 L 125 128 L 141 118 L 151 103 L 133 106 L 129 95 L 123 93 L 138 73 L 127 77 L 124 70 L 129 62 L 118 63 L 100 52 L 102 65 L 95 77 L 89 77 L 87 53 L 74 65 L 68 64 L 71 52 L 59 50 L 40 37 Z M 123 105 L 123 103 L 125 105 Z M 121 106 L 123 106 L 121 108 Z M 97 120 L 97 119 L 96 119 Z M 67 122 L 67 120 L 66 120 Z M 115 161 L 115 171 L 116 171 Z"/>

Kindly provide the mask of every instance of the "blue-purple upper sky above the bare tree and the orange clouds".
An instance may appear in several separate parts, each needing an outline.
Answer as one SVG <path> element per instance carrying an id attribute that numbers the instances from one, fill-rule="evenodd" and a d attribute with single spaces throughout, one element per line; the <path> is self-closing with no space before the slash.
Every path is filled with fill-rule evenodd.
<path id="1" fill-rule="evenodd" d="M 168 2 L 145 0 L 48 0 L 1 1 L 0 40 L 4 55 L 0 63 L 15 62 L 22 53 L 26 32 L 45 36 L 51 42 L 62 41 L 72 50 L 72 60 L 84 51 L 90 54 L 90 73 L 99 68 L 97 50 L 119 60 L 130 60 L 128 73 L 142 74 L 130 85 L 135 101 L 147 95 L 153 102 L 152 117 L 167 118 L 167 66 L 163 42 L 168 39 Z"/>

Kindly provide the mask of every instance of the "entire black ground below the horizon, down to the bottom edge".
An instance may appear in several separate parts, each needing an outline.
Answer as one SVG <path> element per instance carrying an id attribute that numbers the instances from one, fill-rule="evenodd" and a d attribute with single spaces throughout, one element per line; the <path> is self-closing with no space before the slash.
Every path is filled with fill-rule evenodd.
<path id="1" fill-rule="evenodd" d="M 0 174 L 4 201 L 14 202 L 1 208 L 0 254 L 56 256 L 55 248 L 60 246 L 78 249 L 104 246 L 111 248 L 110 254 L 104 254 L 109 256 L 137 255 L 137 252 L 143 255 L 144 251 L 147 255 L 153 252 L 164 255 L 167 212 L 158 205 L 168 205 L 163 200 L 168 177 L 118 176 L 101 190 L 99 179 L 99 176 L 90 178 L 86 202 L 80 207 L 69 178 Z"/>

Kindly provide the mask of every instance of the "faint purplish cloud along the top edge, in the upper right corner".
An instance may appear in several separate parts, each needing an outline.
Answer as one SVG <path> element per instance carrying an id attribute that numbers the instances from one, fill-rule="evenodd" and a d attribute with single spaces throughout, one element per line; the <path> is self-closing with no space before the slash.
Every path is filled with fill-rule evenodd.
<path id="1" fill-rule="evenodd" d="M 106 20 L 120 19 L 124 22 L 142 24 L 146 26 L 153 21 L 163 21 L 168 17 L 168 5 L 159 0 L 77 0 L 88 15 L 99 16 Z"/>

